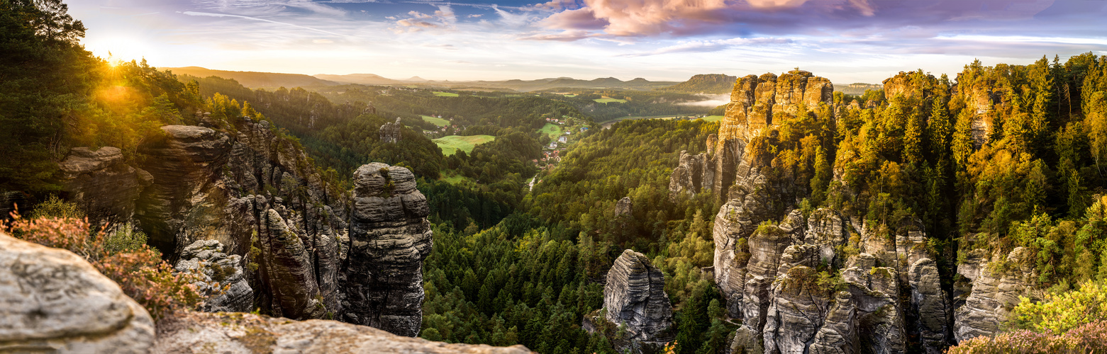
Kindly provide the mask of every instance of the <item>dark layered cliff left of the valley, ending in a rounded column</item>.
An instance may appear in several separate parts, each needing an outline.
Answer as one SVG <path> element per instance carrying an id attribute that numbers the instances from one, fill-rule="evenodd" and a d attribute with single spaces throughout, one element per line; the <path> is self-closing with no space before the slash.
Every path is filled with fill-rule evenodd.
<path id="1" fill-rule="evenodd" d="M 162 131 L 163 139 L 141 147 L 149 156 L 142 169 L 106 147 L 74 149 L 63 169 L 71 195 L 87 200 L 90 210 L 126 220 L 133 202 L 149 243 L 182 269 L 217 260 L 219 270 L 241 271 L 240 278 L 210 280 L 232 283 L 235 292 L 211 299 L 209 310 L 258 306 L 296 320 L 342 319 L 418 333 L 421 267 L 432 241 L 426 198 L 411 171 L 366 165 L 354 176 L 351 200 L 268 122 L 242 117 L 227 131 Z M 99 200 L 107 201 L 99 207 Z"/>

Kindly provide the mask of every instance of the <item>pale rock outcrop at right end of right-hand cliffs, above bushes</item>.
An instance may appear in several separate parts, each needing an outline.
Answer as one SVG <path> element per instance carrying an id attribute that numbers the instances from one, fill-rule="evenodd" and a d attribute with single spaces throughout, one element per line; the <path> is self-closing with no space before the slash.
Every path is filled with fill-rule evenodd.
<path id="1" fill-rule="evenodd" d="M 991 260 L 985 259 L 986 254 L 983 250 L 971 251 L 958 267 L 958 273 L 970 281 L 966 296 L 962 295 L 964 304 L 953 313 L 953 336 L 958 342 L 999 333 L 1000 324 L 1018 304 L 1018 296 L 1032 295 L 1033 251 L 1018 247 L 1008 254 L 992 254 Z"/>

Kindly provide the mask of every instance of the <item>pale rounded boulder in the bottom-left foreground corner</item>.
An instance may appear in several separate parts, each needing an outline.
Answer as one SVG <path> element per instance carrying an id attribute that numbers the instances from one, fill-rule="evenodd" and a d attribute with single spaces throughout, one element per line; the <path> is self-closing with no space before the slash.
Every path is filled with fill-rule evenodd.
<path id="1" fill-rule="evenodd" d="M 0 352 L 147 353 L 154 322 L 73 252 L 0 233 Z"/>

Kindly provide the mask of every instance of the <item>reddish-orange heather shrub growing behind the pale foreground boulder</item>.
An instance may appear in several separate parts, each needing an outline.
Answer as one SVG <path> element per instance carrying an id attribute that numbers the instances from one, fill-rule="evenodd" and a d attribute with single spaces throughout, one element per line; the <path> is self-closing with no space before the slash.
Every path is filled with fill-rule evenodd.
<path id="1" fill-rule="evenodd" d="M 193 283 L 200 277 L 175 272 L 161 253 L 146 246 L 145 236 L 130 225 L 112 232 L 90 231 L 87 219 L 42 217 L 24 219 L 18 214 L 0 230 L 42 246 L 81 256 L 115 281 L 155 319 L 177 310 L 195 309 L 203 296 Z"/>

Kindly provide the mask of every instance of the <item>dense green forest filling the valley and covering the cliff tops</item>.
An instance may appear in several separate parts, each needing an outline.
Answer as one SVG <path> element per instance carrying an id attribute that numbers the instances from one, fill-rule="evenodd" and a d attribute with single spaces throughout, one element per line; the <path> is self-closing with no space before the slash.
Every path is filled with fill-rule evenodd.
<path id="1" fill-rule="evenodd" d="M 603 128 L 596 123 L 646 112 L 707 114 L 711 107 L 669 104 L 696 96 L 664 91 L 568 97 L 353 84 L 250 90 L 216 76 L 175 75 L 145 61 L 96 58 L 80 42 L 83 24 L 65 9 L 58 0 L 0 2 L 4 214 L 17 204 L 28 216 L 83 215 L 65 202 L 73 195 L 59 181 L 59 163 L 73 148 L 116 147 L 123 162 L 143 164 L 155 156 L 141 147 L 167 139 L 164 125 L 231 135 L 245 134 L 241 119 L 249 118 L 265 123 L 280 150 L 306 154 L 297 173 L 318 175 L 327 198 L 360 188 L 351 176 L 365 164 L 414 174 L 433 230 L 422 267 L 423 339 L 523 344 L 544 354 L 618 353 L 627 347 L 625 326 L 584 323 L 603 313 L 609 270 L 630 249 L 664 274 L 674 311 L 666 350 L 726 353 L 737 341 L 744 324 L 727 311 L 734 304 L 716 284 L 713 253 L 722 219 L 737 218 L 721 208 L 742 198 L 672 187 L 682 155 L 716 154 L 724 125 L 733 124 L 730 108 L 711 111 L 727 114 L 723 122 L 640 119 Z M 792 210 L 804 220 L 827 210 L 852 220 L 836 256 L 813 268 L 814 285 L 804 290 L 813 299 L 845 292 L 847 262 L 866 242 L 909 232 L 924 235 L 920 252 L 935 262 L 939 292 L 950 303 L 966 301 L 963 289 L 972 280 L 958 268 L 973 259 L 987 260 L 982 272 L 1033 274 L 1014 295 L 1020 302 L 1005 309 L 1012 314 L 994 339 L 962 341 L 951 352 L 1025 350 L 1020 343 L 1072 350 L 1066 343 L 1085 333 L 1070 332 L 1077 330 L 1093 333 L 1079 341 L 1094 342 L 1088 337 L 1101 337 L 1096 325 L 1107 321 L 1100 301 L 1107 293 L 1107 56 L 1088 52 L 992 66 L 974 61 L 950 74 L 901 72 L 882 91 L 795 103 L 741 137 L 741 164 L 759 168 L 765 188 L 743 198 L 768 194 L 766 215 L 773 215 L 757 221 L 756 232 L 780 232 L 775 230 Z M 628 102 L 596 101 L 602 97 Z M 444 155 L 431 136 L 443 127 L 422 117 L 428 115 L 449 119 L 449 133 L 495 139 Z M 573 119 L 583 129 L 570 132 L 571 144 L 547 148 L 557 142 L 541 132 L 551 119 Z M 382 129 L 396 123 L 399 140 L 387 140 Z M 558 164 L 539 167 L 554 152 Z M 268 196 L 309 204 L 307 183 L 277 187 L 269 186 Z M 756 257 L 746 243 L 752 239 L 742 238 L 733 250 Z M 241 247 L 248 267 L 258 267 L 257 244 Z M 1018 252 L 1028 256 L 1007 257 Z M 148 258 L 156 263 L 157 257 Z M 910 294 L 901 296 L 910 303 Z M 907 332 L 908 352 L 930 345 L 921 330 Z M 952 337 L 938 341 L 942 350 L 959 344 Z"/>

